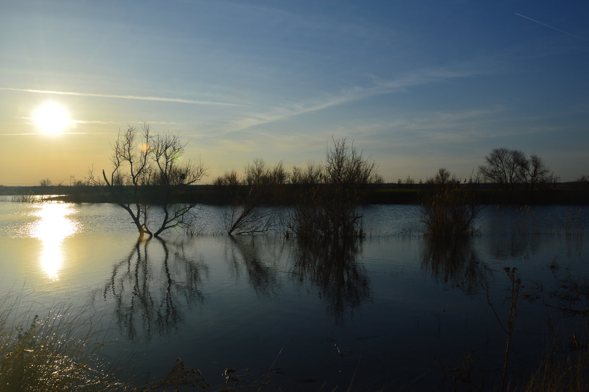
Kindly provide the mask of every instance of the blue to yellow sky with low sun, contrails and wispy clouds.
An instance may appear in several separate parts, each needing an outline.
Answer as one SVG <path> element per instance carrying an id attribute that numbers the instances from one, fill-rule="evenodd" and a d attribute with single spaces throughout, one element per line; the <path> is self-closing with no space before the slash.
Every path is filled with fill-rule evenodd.
<path id="1" fill-rule="evenodd" d="M 385 182 L 495 147 L 589 174 L 589 2 L 0 3 L 0 185 L 110 167 L 119 130 L 180 133 L 210 183 L 321 162 L 345 137 Z M 57 114 L 56 114 L 57 113 Z M 54 124 L 51 126 L 51 124 Z"/>

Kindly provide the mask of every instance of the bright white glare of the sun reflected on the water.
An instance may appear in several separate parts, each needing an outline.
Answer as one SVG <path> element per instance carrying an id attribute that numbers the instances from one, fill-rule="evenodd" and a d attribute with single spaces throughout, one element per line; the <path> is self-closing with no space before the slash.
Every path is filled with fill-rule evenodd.
<path id="1" fill-rule="evenodd" d="M 33 215 L 39 219 L 32 223 L 29 235 L 42 243 L 39 263 L 50 279 L 59 279 L 58 271 L 64 262 L 62 242 L 78 231 L 78 223 L 68 215 L 76 210 L 71 203 L 45 202 L 37 207 Z"/>

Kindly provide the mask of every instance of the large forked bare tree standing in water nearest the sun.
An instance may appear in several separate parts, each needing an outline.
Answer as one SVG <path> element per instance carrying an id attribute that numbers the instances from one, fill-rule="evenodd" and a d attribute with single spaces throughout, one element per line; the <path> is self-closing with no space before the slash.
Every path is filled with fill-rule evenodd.
<path id="1" fill-rule="evenodd" d="M 200 160 L 180 162 L 186 142 L 178 134 L 150 134 L 150 127 L 129 126 L 111 144 L 112 170 L 102 170 L 112 199 L 125 209 L 141 236 L 159 236 L 175 226 L 185 227 L 196 203 L 178 203 L 180 190 L 209 173 Z M 92 170 L 88 182 L 100 185 Z M 154 209 L 159 212 L 155 218 Z M 153 228 L 153 221 L 157 219 Z"/>

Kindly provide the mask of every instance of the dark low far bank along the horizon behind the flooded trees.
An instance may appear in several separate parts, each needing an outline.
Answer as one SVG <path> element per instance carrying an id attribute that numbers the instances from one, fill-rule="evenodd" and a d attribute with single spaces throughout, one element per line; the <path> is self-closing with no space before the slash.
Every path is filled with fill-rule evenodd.
<path id="1" fill-rule="evenodd" d="M 266 199 L 269 205 L 293 205 L 294 188 L 300 185 L 283 184 L 280 192 Z M 475 190 L 479 204 L 564 204 L 588 205 L 589 182 L 555 183 L 543 189 L 505 190 L 494 184 L 468 185 Z M 234 202 L 234 187 L 230 185 L 191 185 L 183 188 L 176 202 L 196 202 L 209 205 L 230 205 Z M 244 190 L 247 185 L 239 185 Z M 125 189 L 125 186 L 123 186 Z M 133 201 L 128 187 L 129 201 Z M 373 185 L 363 203 L 365 204 L 421 204 L 429 193 L 434 192 L 428 184 L 384 183 Z M 74 203 L 112 203 L 106 186 L 0 186 L 0 195 L 62 195 L 56 197 Z"/>

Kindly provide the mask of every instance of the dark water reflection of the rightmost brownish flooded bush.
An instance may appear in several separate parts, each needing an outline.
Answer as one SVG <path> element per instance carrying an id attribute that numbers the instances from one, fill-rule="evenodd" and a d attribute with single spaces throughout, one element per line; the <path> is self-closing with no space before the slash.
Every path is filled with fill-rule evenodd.
<path id="1" fill-rule="evenodd" d="M 442 241 L 425 238 L 422 247 L 421 268 L 444 283 L 476 294 L 486 280 L 489 269 L 481 261 L 468 238 Z"/>

